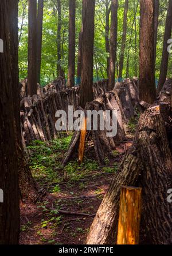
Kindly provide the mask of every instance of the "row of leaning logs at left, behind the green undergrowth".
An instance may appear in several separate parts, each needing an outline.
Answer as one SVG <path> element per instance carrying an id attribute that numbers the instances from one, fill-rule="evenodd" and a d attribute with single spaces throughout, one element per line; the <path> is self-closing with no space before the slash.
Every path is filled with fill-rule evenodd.
<path id="1" fill-rule="evenodd" d="M 38 86 L 38 94 L 21 100 L 21 132 L 24 147 L 32 140 L 48 141 L 57 138 L 55 114 L 57 110 L 68 112 L 79 106 L 79 88 L 65 89 L 62 80 L 55 80 L 44 88 Z"/>

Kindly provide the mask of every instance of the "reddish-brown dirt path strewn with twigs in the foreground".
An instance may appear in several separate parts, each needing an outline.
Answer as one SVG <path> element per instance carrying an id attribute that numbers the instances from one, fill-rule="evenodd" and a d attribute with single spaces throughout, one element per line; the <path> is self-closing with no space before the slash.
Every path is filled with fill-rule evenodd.
<path id="1" fill-rule="evenodd" d="M 130 140 L 120 144 L 115 161 L 108 165 L 119 164 L 131 145 Z M 108 170 L 108 166 L 99 168 L 79 181 L 63 180 L 58 191 L 50 193 L 50 201 L 35 205 L 22 202 L 20 244 L 83 244 L 114 177 L 114 172 Z"/>

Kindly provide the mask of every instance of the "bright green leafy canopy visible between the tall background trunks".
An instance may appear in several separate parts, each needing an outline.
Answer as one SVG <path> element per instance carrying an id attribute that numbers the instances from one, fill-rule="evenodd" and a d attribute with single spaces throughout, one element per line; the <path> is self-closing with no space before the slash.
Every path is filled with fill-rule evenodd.
<path id="1" fill-rule="evenodd" d="M 41 84 L 45 85 L 57 77 L 57 1 L 44 1 L 44 19 L 42 32 L 42 63 L 41 63 Z M 61 66 L 65 70 L 65 77 L 68 73 L 68 22 L 69 22 L 69 7 L 68 0 L 61 0 Z M 107 78 L 107 53 L 105 52 L 105 3 L 110 7 L 111 0 L 96 0 L 95 7 L 95 43 L 94 43 L 94 66 L 93 76 L 95 80 Z M 119 1 L 118 7 L 118 48 L 117 62 L 119 63 L 120 50 L 122 44 L 123 33 L 123 13 L 125 0 Z M 129 55 L 129 75 L 136 76 L 139 73 L 139 22 L 140 13 L 139 6 L 136 12 L 136 3 L 138 0 L 130 0 L 128 6 L 127 17 L 127 36 L 126 50 L 124 52 L 124 68 L 123 78 L 126 77 L 127 57 Z M 163 35 L 165 31 L 167 0 L 160 1 L 159 10 L 159 27 L 157 39 L 157 63 L 155 76 L 158 79 L 161 65 Z M 136 12 L 136 27 L 134 25 L 134 16 Z M 77 52 L 79 42 L 79 32 L 81 30 L 82 0 L 76 0 L 76 70 L 77 70 Z M 23 21 L 23 22 L 22 22 Z M 110 18 L 111 21 L 111 18 Z M 23 25 L 22 25 L 23 24 Z M 21 26 L 22 25 L 22 26 Z M 28 1 L 19 0 L 18 12 L 18 27 L 19 35 L 19 78 L 27 77 L 28 66 Z M 135 41 L 136 35 L 136 41 Z M 168 76 L 171 75 L 172 62 L 169 59 Z M 97 69 L 96 69 L 97 67 Z M 117 74 L 116 74 L 117 77 Z"/>

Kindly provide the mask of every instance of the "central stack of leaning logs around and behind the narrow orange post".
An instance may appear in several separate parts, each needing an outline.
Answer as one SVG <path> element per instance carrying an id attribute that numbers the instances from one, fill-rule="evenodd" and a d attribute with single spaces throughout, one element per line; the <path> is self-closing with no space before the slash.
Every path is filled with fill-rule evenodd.
<path id="1" fill-rule="evenodd" d="M 89 131 L 88 137 L 89 139 L 92 138 L 96 160 L 100 165 L 103 165 L 105 159 L 113 156 L 113 150 L 125 139 L 125 127 L 127 126 L 128 120 L 136 115 L 135 108 L 139 106 L 139 96 L 134 80 L 127 79 L 122 83 L 117 83 L 114 90 L 110 92 L 98 91 L 99 86 L 97 85 L 100 85 L 100 82 L 96 84 L 96 95 L 99 96 L 91 103 L 87 103 L 85 112 L 87 110 L 103 110 L 104 116 L 107 110 L 111 112 L 116 110 L 117 113 L 117 134 L 114 137 L 107 137 L 107 130 L 101 131 L 99 127 L 97 130 L 92 129 Z M 112 118 L 110 123 L 112 124 Z M 68 163 L 73 153 L 79 148 L 80 134 L 81 131 L 75 131 L 62 166 Z"/>

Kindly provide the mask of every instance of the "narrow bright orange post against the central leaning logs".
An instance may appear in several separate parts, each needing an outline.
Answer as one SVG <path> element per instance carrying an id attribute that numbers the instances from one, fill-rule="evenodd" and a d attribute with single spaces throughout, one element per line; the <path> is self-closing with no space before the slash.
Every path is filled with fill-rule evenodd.
<path id="1" fill-rule="evenodd" d="M 79 163 L 83 163 L 86 135 L 87 135 L 87 118 L 84 118 L 82 123 L 82 128 L 81 128 L 81 135 L 80 135 Z"/>

